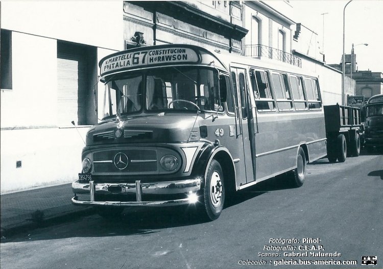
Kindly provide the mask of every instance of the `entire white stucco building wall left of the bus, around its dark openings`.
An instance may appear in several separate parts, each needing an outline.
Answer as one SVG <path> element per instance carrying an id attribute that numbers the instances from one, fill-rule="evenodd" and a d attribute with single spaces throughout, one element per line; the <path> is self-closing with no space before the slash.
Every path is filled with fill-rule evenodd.
<path id="1" fill-rule="evenodd" d="M 98 61 L 124 48 L 123 2 L 6 1 L 1 17 L 12 34 L 12 90 L 0 92 L 1 193 L 71 182 L 81 172 L 78 131 L 85 139 L 89 127 L 57 126 L 57 40 L 94 46 L 93 102 Z"/>

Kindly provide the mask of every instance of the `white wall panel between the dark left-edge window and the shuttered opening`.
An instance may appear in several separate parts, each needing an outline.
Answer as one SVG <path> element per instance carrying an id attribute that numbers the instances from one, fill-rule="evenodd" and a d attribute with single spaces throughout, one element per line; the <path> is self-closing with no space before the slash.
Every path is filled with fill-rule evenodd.
<path id="1" fill-rule="evenodd" d="M 12 80 L 1 92 L 1 127 L 55 126 L 56 40 L 12 32 Z"/>

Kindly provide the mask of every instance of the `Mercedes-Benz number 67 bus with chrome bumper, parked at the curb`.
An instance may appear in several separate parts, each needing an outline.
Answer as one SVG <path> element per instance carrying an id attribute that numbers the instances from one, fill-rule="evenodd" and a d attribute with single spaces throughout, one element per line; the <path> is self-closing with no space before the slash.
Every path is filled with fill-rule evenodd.
<path id="1" fill-rule="evenodd" d="M 318 77 L 301 68 L 183 44 L 99 66 L 102 121 L 87 132 L 72 201 L 103 217 L 188 204 L 216 220 L 237 191 L 281 174 L 299 187 L 326 156 Z"/>

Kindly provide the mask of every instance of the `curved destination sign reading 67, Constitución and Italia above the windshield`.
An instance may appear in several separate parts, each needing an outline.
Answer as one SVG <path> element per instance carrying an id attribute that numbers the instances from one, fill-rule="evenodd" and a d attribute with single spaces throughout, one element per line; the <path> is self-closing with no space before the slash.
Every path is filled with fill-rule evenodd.
<path id="1" fill-rule="evenodd" d="M 103 59 L 101 76 L 131 68 L 172 63 L 197 63 L 198 61 L 199 57 L 197 52 L 191 48 L 166 47 L 138 51 L 133 50 L 132 52 L 121 54 L 116 53 Z"/>

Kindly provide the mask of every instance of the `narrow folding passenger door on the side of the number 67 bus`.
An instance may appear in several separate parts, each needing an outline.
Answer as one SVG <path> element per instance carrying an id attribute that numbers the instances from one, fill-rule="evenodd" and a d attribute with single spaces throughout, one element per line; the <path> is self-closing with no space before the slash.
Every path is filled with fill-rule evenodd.
<path id="1" fill-rule="evenodd" d="M 242 148 L 240 154 L 240 162 L 236 164 L 236 171 L 239 180 L 238 182 L 252 182 L 254 176 L 254 158 L 253 155 L 253 139 L 254 139 L 254 121 L 250 101 L 249 87 L 246 84 L 246 69 L 244 68 L 231 68 L 231 75 L 233 78 L 234 90 L 237 96 L 237 114 L 238 114 L 238 136 L 242 137 Z M 239 138 L 240 138 L 239 137 Z M 240 138 L 241 139 L 241 138 Z M 246 181 L 244 178 L 246 177 Z"/>

